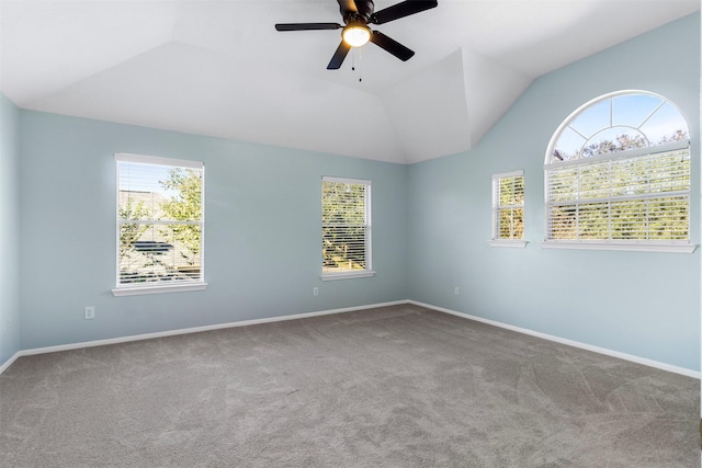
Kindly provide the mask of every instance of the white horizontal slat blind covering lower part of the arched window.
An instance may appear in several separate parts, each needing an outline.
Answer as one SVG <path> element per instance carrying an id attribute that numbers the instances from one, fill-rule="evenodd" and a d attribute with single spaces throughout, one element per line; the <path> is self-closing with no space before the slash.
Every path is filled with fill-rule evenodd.
<path id="1" fill-rule="evenodd" d="M 546 168 L 547 241 L 690 238 L 690 149 Z"/>

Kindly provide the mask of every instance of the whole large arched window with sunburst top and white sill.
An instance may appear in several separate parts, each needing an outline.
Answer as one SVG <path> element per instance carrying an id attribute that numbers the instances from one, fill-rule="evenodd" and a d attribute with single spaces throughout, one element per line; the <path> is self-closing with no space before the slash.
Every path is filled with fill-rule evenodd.
<path id="1" fill-rule="evenodd" d="M 544 165 L 544 247 L 692 252 L 688 126 L 665 98 L 626 91 L 576 111 Z"/>

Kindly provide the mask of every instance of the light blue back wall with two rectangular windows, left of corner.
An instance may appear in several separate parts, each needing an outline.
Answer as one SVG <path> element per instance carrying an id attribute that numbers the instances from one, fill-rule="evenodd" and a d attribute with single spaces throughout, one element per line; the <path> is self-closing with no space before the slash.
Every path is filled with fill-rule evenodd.
<path id="1" fill-rule="evenodd" d="M 30 111 L 21 140 L 22 349 L 407 297 L 405 165 Z M 112 296 L 115 152 L 204 161 L 206 290 Z M 319 279 L 322 175 L 373 181 L 375 277 Z"/>

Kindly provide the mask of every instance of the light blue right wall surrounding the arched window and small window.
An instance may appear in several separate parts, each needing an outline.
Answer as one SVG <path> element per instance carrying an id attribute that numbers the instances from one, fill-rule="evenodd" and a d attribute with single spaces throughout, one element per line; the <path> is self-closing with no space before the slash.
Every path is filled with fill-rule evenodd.
<path id="1" fill-rule="evenodd" d="M 699 370 L 700 249 L 541 247 L 550 138 L 578 106 L 623 89 L 660 93 L 688 119 L 692 241 L 699 243 L 700 16 L 693 14 L 539 78 L 477 148 L 410 167 L 410 298 Z M 490 248 L 490 176 L 518 169 L 525 175 L 529 244 Z"/>

